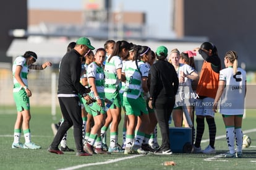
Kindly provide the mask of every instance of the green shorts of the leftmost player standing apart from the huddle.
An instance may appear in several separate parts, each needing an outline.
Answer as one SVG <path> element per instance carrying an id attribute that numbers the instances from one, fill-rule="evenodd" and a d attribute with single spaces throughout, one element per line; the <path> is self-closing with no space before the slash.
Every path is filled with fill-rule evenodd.
<path id="1" fill-rule="evenodd" d="M 20 89 L 20 91 L 14 92 L 13 95 L 17 111 L 30 110 L 30 102 L 25 90 Z"/>

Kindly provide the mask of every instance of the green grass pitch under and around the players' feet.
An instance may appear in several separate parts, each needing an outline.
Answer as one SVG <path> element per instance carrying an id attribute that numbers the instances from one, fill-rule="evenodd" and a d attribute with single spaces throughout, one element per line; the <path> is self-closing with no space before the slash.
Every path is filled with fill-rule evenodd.
<path id="1" fill-rule="evenodd" d="M 59 108 L 57 111 L 57 120 L 51 116 L 51 108 L 32 106 L 32 120 L 30 129 L 32 132 L 32 141 L 41 145 L 41 150 L 12 149 L 14 122 L 16 111 L 12 106 L 0 106 L 0 169 L 64 169 L 77 165 L 88 165 L 80 169 L 255 169 L 255 141 L 256 133 L 246 133 L 252 139 L 250 148 L 243 150 L 243 158 L 225 159 L 223 154 L 228 151 L 225 138 L 216 139 L 215 147 L 217 153 L 214 155 L 205 154 L 187 154 L 174 153 L 168 156 L 145 155 L 130 159 L 130 156 L 122 153 L 113 153 L 111 155 L 93 155 L 93 156 L 75 156 L 75 153 L 65 153 L 64 155 L 55 155 L 48 153 L 47 148 L 53 140 L 51 123 L 58 122 L 61 117 Z M 223 120 L 220 114 L 216 114 L 217 134 L 225 135 Z M 255 110 L 247 110 L 246 118 L 243 121 L 242 129 L 244 132 L 255 129 L 256 115 Z M 121 122 L 122 125 L 122 122 Z M 122 142 L 122 128 L 119 126 L 119 143 Z M 109 137 L 109 133 L 108 133 Z M 208 128 L 205 126 L 203 140 L 208 139 Z M 109 141 L 109 140 L 108 140 Z M 21 142 L 24 142 L 23 136 Z M 160 131 L 158 130 L 158 142 L 161 143 Z M 75 148 L 72 129 L 68 132 L 67 145 Z M 202 143 L 202 148 L 207 147 L 208 142 Z M 114 161 L 108 163 L 108 161 Z M 174 161 L 176 166 L 164 166 L 164 161 Z M 105 164 L 97 164 L 105 163 Z M 72 168 L 70 168 L 72 169 Z M 75 169 L 75 168 L 73 168 Z"/>

